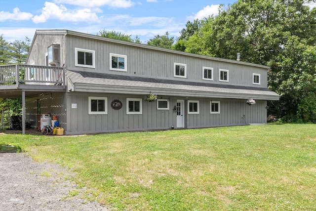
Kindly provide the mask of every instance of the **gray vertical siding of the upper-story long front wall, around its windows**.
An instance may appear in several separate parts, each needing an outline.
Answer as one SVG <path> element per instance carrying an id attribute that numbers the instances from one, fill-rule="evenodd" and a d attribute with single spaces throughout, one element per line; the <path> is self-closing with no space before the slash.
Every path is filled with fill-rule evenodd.
<path id="1" fill-rule="evenodd" d="M 138 46 L 68 35 L 66 39 L 67 69 L 192 82 L 267 87 L 267 69 L 198 58 Z M 75 47 L 95 50 L 95 69 L 75 66 Z M 110 53 L 127 55 L 127 72 L 110 70 Z M 187 78 L 174 77 L 174 62 L 187 65 Z M 202 80 L 202 67 L 214 68 L 213 81 Z M 229 70 L 229 82 L 219 82 L 219 69 Z M 252 74 L 261 75 L 261 84 L 252 84 Z"/>

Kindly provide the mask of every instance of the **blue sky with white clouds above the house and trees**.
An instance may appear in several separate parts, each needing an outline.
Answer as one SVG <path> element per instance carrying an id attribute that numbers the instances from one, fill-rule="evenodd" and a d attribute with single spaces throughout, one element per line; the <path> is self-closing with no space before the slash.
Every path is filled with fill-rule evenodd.
<path id="1" fill-rule="evenodd" d="M 0 0 L 4 40 L 33 39 L 37 29 L 67 29 L 96 35 L 114 30 L 147 42 L 168 31 L 178 37 L 189 20 L 218 13 L 235 0 Z"/>

